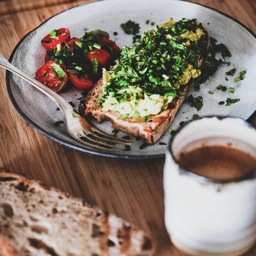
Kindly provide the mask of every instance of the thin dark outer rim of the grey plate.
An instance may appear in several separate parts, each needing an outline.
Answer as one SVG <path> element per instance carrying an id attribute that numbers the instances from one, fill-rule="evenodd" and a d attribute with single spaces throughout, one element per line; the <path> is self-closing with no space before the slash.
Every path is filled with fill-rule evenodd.
<path id="1" fill-rule="evenodd" d="M 24 35 L 19 42 L 16 44 L 16 46 L 14 47 L 13 51 L 11 52 L 11 55 L 9 57 L 9 61 L 10 63 L 13 61 L 13 57 L 16 53 L 16 50 L 18 49 L 18 47 L 20 46 L 20 44 L 27 38 L 28 35 L 30 35 L 32 32 L 34 32 L 35 30 L 37 30 L 39 27 L 41 27 L 44 23 L 48 22 L 49 19 L 52 19 L 53 17 L 55 17 L 56 15 L 59 15 L 61 13 L 64 13 L 65 11 L 71 10 L 73 8 L 77 8 L 80 6 L 84 6 L 84 5 L 89 5 L 91 3 L 95 3 L 95 2 L 100 2 L 100 1 L 104 1 L 104 0 L 98 0 L 98 1 L 92 1 L 92 2 L 87 2 L 87 3 L 81 3 L 80 5 L 76 5 L 76 6 L 72 6 L 68 9 L 65 9 L 63 11 L 60 11 L 59 13 L 56 13 L 54 15 L 52 15 L 51 17 L 49 17 L 48 19 L 44 20 L 42 23 L 39 24 L 39 26 L 35 27 L 34 29 L 32 29 L 31 31 L 27 32 L 26 35 Z M 187 0 L 181 0 L 183 2 L 189 2 Z M 213 7 L 210 6 L 206 6 L 203 5 L 201 3 L 194 3 L 194 2 L 189 2 L 192 3 L 193 5 L 199 5 L 199 6 L 203 6 L 207 9 L 216 11 L 217 13 L 220 13 L 224 16 L 226 16 L 229 19 L 232 19 L 234 22 L 240 24 L 240 26 L 242 26 L 243 28 L 245 28 L 248 32 L 250 32 L 251 35 L 254 36 L 254 38 L 256 39 L 256 35 L 254 34 L 254 32 L 247 26 L 245 26 L 245 24 L 243 24 L 242 22 L 240 22 L 239 20 L 237 20 L 236 18 L 234 18 L 233 16 L 230 16 L 229 14 L 226 14 L 220 10 L 214 9 Z M 79 146 L 76 146 L 75 144 L 69 143 L 67 141 L 64 141 L 63 139 L 57 138 L 54 135 L 51 135 L 50 133 L 48 133 L 46 130 L 42 129 L 39 125 L 36 125 L 36 123 L 34 121 L 32 121 L 29 117 L 27 117 L 27 115 L 19 108 L 18 104 L 15 101 L 15 98 L 13 96 L 13 93 L 11 92 L 11 86 L 10 86 L 10 75 L 11 72 L 6 70 L 6 88 L 7 88 L 7 93 L 9 94 L 9 98 L 11 100 L 11 103 L 13 104 L 14 108 L 16 109 L 16 111 L 20 114 L 20 116 L 32 127 L 34 127 L 37 131 L 39 131 L 40 133 L 42 133 L 43 135 L 45 135 L 46 137 L 48 137 L 49 139 L 52 139 L 52 141 L 55 141 L 61 145 L 64 145 L 68 148 L 72 148 L 73 150 L 76 151 L 80 151 L 89 155 L 97 155 L 97 156 L 104 156 L 107 158 L 118 158 L 118 159 L 161 159 L 164 158 L 165 154 L 155 154 L 155 155 L 126 155 L 126 154 L 118 154 L 115 152 L 100 152 L 100 151 L 96 151 L 93 148 L 82 148 Z M 256 113 L 256 110 L 253 114 L 250 115 L 249 118 L 247 118 L 247 120 L 249 120 L 251 117 L 253 117 L 253 115 Z"/>

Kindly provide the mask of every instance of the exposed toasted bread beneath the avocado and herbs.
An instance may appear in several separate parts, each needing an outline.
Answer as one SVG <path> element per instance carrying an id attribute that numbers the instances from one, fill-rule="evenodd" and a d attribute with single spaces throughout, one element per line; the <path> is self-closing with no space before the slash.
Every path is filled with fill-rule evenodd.
<path id="1" fill-rule="evenodd" d="M 207 40 L 205 45 L 209 48 L 209 34 L 204 28 L 204 32 L 207 34 Z M 200 63 L 203 63 L 204 58 Z M 90 90 L 85 101 L 81 101 L 79 106 L 79 113 L 84 116 L 92 115 L 98 122 L 110 120 L 115 129 L 125 131 L 133 134 L 136 137 L 140 137 L 146 141 L 147 144 L 156 143 L 160 137 L 166 132 L 168 127 L 174 121 L 181 104 L 187 96 L 187 92 L 192 83 L 192 80 L 187 85 L 181 86 L 180 91 L 183 93 L 182 97 L 175 97 L 168 105 L 168 108 L 156 115 L 151 115 L 147 121 L 143 121 L 140 118 L 121 118 L 121 114 L 114 111 L 105 112 L 100 109 L 98 100 L 103 96 L 102 91 L 102 78 L 93 86 Z"/>

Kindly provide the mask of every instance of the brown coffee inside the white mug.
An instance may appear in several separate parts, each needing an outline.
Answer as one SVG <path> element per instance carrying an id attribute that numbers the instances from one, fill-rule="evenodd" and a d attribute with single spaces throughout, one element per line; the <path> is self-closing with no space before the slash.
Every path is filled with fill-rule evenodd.
<path id="1" fill-rule="evenodd" d="M 213 179 L 234 179 L 256 170 L 256 158 L 228 146 L 202 146 L 183 151 L 177 162 L 195 174 Z"/>

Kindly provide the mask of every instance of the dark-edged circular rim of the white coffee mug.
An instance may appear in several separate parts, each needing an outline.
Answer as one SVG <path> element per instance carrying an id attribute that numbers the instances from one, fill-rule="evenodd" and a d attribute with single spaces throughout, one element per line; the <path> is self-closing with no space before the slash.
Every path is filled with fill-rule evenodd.
<path id="1" fill-rule="evenodd" d="M 187 175 L 189 177 L 192 177 L 192 178 L 198 180 L 201 183 L 225 184 L 225 183 L 238 183 L 238 182 L 244 181 L 244 180 L 255 179 L 255 177 L 256 177 L 256 169 L 251 171 L 251 172 L 249 172 L 249 174 L 242 175 L 242 176 L 236 177 L 236 178 L 214 179 L 214 178 L 210 178 L 210 177 L 204 177 L 204 176 L 201 176 L 199 174 L 195 174 L 195 173 L 187 170 L 185 167 L 181 166 L 179 163 L 177 163 L 177 160 L 176 160 L 176 158 L 174 156 L 174 153 L 172 151 L 172 143 L 174 142 L 174 139 L 175 139 L 176 135 L 179 134 L 180 131 L 182 129 L 184 129 L 184 127 L 189 125 L 189 123 L 191 123 L 191 122 L 196 122 L 196 121 L 198 121 L 200 119 L 204 119 L 204 118 L 214 118 L 214 117 L 216 117 L 219 120 L 222 120 L 222 119 L 238 119 L 238 120 L 242 120 L 242 122 L 246 126 L 256 129 L 256 127 L 253 125 L 253 123 L 249 123 L 249 122 L 245 121 L 242 118 L 232 117 L 232 116 L 225 116 L 225 115 L 204 115 L 203 117 L 198 117 L 196 119 L 191 119 L 191 120 L 187 121 L 187 123 L 185 123 L 184 125 L 180 126 L 177 130 L 175 130 L 175 134 L 171 137 L 171 139 L 170 139 L 170 141 L 168 143 L 168 147 L 167 147 L 167 152 L 170 152 L 170 154 L 172 156 L 172 159 L 174 159 L 174 162 L 179 166 L 179 172 L 181 174 L 184 174 L 184 175 Z"/>

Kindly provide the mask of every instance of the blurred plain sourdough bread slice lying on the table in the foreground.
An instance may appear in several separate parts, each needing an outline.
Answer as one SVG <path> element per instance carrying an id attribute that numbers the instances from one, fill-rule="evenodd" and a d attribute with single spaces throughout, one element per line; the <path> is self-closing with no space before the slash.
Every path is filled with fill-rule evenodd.
<path id="1" fill-rule="evenodd" d="M 4 251 L 10 253 L 1 254 Z M 144 232 L 121 218 L 67 193 L 0 170 L 1 256 L 152 253 L 152 242 Z"/>

